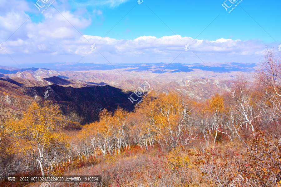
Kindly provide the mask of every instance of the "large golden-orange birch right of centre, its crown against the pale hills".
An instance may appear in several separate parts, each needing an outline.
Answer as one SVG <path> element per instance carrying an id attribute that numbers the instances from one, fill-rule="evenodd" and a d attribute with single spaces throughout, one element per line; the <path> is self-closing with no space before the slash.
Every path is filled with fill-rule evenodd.
<path id="1" fill-rule="evenodd" d="M 189 99 L 174 91 L 146 97 L 138 110 L 146 118 L 147 130 L 142 136 L 153 135 L 160 145 L 176 147 L 189 123 L 192 109 Z"/>

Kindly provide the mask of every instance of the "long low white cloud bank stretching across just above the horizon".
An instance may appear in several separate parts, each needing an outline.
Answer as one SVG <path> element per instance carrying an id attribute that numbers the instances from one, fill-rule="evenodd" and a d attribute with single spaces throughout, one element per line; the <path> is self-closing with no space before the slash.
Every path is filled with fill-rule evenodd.
<path id="1" fill-rule="evenodd" d="M 220 55 L 229 56 L 260 56 L 264 52 L 264 43 L 256 40 L 231 40 L 218 39 L 216 41 L 194 40 L 190 37 L 163 36 L 140 36 L 134 40 L 117 40 L 101 36 L 81 36 L 74 28 L 60 26 L 45 30 L 44 23 L 33 24 L 29 28 L 27 39 L 7 41 L 5 47 L 9 53 L 30 54 L 56 54 L 56 55 L 80 55 L 84 56 L 91 51 L 90 47 L 95 43 L 96 51 L 89 53 L 95 55 L 101 51 L 110 56 L 122 56 L 123 59 L 131 57 L 166 57 L 173 58 L 181 52 L 183 55 L 192 55 L 192 51 L 201 56 L 212 56 L 219 60 Z M 101 40 L 101 41 L 100 41 Z M 194 41 L 194 42 L 192 42 Z M 189 43 L 190 51 L 185 52 L 184 46 Z M 1 51 L 2 52 L 2 51 Z M 56 56 L 54 55 L 54 58 Z M 67 60 L 66 60 L 67 61 Z M 125 60 L 126 61 L 126 60 Z"/>

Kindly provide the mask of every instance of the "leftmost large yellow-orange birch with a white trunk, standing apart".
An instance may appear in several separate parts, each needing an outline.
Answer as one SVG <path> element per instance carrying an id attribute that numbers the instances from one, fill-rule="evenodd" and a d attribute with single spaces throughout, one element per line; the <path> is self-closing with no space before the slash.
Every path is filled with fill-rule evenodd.
<path id="1" fill-rule="evenodd" d="M 8 132 L 22 154 L 38 162 L 42 176 L 44 166 L 50 165 L 66 146 L 66 137 L 61 131 L 63 119 L 59 107 L 52 102 L 42 105 L 32 103 L 20 120 L 7 122 Z"/>

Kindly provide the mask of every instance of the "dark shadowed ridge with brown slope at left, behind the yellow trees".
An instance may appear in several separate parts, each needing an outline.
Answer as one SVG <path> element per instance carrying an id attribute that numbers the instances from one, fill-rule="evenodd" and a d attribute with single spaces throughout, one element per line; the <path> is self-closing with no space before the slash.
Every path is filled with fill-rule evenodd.
<path id="1" fill-rule="evenodd" d="M 34 80 L 27 80 L 27 83 L 38 84 Z M 49 96 L 44 98 L 47 90 Z M 61 106 L 69 120 L 85 124 L 96 121 L 98 112 L 103 108 L 113 111 L 120 106 L 131 111 L 133 106 L 128 100 L 128 94 L 109 85 L 73 88 L 52 84 L 28 87 L 24 81 L 19 83 L 12 79 L 0 79 L 0 117 L 4 122 L 12 115 L 18 117 L 19 111 L 34 100 L 51 100 Z"/>

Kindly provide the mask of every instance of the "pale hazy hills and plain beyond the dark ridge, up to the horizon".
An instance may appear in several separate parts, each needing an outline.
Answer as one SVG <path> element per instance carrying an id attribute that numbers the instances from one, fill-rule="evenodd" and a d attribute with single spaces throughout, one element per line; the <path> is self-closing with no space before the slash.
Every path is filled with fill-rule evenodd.
<path id="1" fill-rule="evenodd" d="M 34 64 L 31 64 L 34 65 Z M 23 67 L 31 65 L 22 65 Z M 208 65 L 208 66 L 207 66 Z M 43 80 L 50 77 L 71 79 L 91 83 L 104 82 L 118 86 L 117 83 L 128 79 L 145 79 L 159 83 L 168 83 L 180 79 L 209 78 L 231 80 L 238 72 L 250 74 L 257 65 L 243 63 L 149 63 L 149 64 L 93 64 L 93 63 L 47 63 L 36 64 L 37 68 L 0 67 L 0 77 L 19 77 L 31 80 Z M 50 79 L 50 84 L 52 84 Z M 77 84 L 77 82 L 75 83 Z M 82 83 L 84 84 L 84 83 Z M 85 83 L 87 84 L 87 83 Z M 61 84 L 65 85 L 65 83 Z"/>

